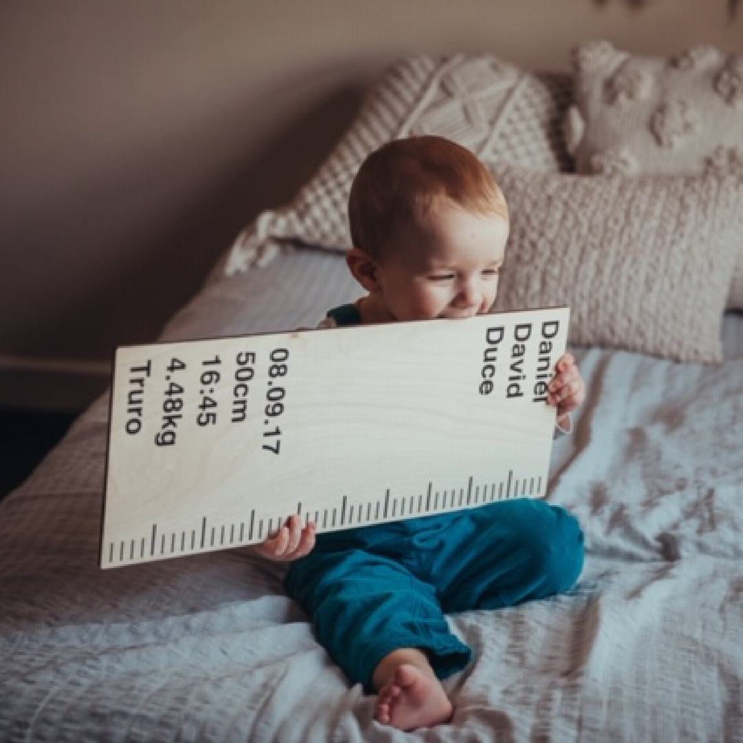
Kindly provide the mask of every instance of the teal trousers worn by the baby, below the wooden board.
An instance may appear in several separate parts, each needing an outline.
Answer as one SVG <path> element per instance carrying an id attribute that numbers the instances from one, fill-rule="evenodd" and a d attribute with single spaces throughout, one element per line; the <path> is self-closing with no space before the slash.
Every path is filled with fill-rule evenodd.
<path id="1" fill-rule="evenodd" d="M 351 681 L 374 687 L 382 658 L 423 650 L 439 678 L 472 652 L 444 614 L 501 609 L 568 590 L 583 568 L 583 533 L 564 508 L 513 499 L 317 536 L 285 587 Z"/>

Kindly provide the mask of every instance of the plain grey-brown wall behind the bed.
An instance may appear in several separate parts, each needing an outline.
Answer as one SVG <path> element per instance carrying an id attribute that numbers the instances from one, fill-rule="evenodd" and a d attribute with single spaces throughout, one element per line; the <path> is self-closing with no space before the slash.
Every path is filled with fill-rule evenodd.
<path id="1" fill-rule="evenodd" d="M 741 50 L 743 18 L 727 0 L 4 2 L 0 404 L 84 404 L 112 348 L 156 337 L 398 56 L 567 69 L 591 38 Z"/>

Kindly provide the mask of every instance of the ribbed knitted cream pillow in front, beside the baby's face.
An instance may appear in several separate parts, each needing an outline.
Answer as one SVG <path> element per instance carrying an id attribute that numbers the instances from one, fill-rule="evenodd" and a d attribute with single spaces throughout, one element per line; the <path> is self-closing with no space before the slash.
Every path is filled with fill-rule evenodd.
<path id="1" fill-rule="evenodd" d="M 743 182 L 498 169 L 510 236 L 496 309 L 571 306 L 570 341 L 720 361 Z"/>

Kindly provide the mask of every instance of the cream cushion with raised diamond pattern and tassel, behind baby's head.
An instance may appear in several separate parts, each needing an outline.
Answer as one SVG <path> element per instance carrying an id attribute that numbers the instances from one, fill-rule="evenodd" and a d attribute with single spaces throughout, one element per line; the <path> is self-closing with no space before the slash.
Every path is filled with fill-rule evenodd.
<path id="1" fill-rule="evenodd" d="M 262 265 L 288 239 L 350 247 L 346 207 L 354 175 L 372 150 L 409 134 L 441 134 L 486 163 L 568 169 L 562 120 L 571 100 L 571 76 L 533 74 L 490 54 L 403 59 L 380 77 L 357 120 L 296 198 L 263 212 L 241 233 L 225 270 Z"/>

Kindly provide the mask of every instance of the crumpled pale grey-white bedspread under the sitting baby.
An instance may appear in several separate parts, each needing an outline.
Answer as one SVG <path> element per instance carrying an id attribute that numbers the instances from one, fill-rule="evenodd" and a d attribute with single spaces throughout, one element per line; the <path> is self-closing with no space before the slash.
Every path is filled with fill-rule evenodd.
<path id="1" fill-rule="evenodd" d="M 358 296 L 302 250 L 215 280 L 168 338 L 314 325 Z M 586 536 L 574 591 L 451 617 L 476 661 L 451 724 L 372 719 L 282 592 L 235 550 L 100 571 L 107 400 L 0 504 L 0 741 L 743 741 L 743 316 L 726 360 L 577 349 L 588 398 L 551 500 Z"/>

